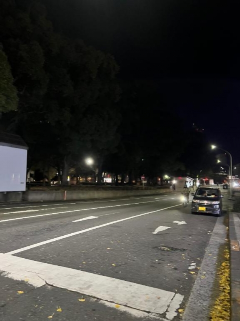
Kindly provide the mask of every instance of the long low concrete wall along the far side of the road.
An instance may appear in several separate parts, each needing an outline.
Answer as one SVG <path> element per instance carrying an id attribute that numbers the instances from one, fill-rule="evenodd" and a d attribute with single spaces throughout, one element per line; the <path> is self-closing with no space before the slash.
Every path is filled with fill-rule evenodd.
<path id="1" fill-rule="evenodd" d="M 23 192 L 23 201 L 69 201 L 81 199 L 117 198 L 129 196 L 159 195 L 170 192 L 170 189 L 147 189 L 137 191 L 26 191 Z"/>

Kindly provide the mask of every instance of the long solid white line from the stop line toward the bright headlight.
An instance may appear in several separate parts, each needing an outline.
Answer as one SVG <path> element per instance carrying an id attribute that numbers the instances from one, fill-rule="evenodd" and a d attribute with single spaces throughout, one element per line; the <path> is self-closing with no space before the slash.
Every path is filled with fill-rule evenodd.
<path id="1" fill-rule="evenodd" d="M 92 230 L 96 230 L 96 229 L 99 229 L 101 227 L 105 227 L 105 226 L 108 226 L 108 225 L 112 225 L 112 224 L 116 224 L 116 223 L 119 223 L 119 222 L 131 220 L 131 219 L 134 219 L 136 217 L 140 217 L 140 216 L 144 216 L 144 215 L 148 215 L 148 214 L 152 214 L 152 213 L 157 213 L 157 212 L 160 212 L 160 211 L 168 210 L 168 209 L 171 209 L 173 207 L 180 206 L 180 205 L 182 205 L 182 203 L 181 204 L 177 204 L 177 205 L 172 205 L 172 206 L 169 206 L 169 207 L 165 207 L 163 209 L 159 209 L 159 210 L 156 210 L 156 211 L 146 212 L 146 213 L 142 213 L 142 214 L 126 217 L 124 219 L 120 219 L 120 220 L 117 220 L 117 221 L 112 221 L 112 222 L 108 222 L 108 223 L 105 223 L 105 224 L 93 226 L 93 227 L 90 227 L 88 229 L 84 229 L 84 230 L 81 230 L 81 231 L 77 231 L 77 232 L 73 232 L 73 233 L 70 233 L 70 234 L 66 234 L 66 235 L 62 235 L 62 236 L 59 236 L 59 237 L 55 237 L 54 239 L 46 240 L 46 241 L 39 242 L 39 243 L 36 243 L 36 244 L 32 244 L 32 245 L 29 245 L 29 246 L 25 246 L 25 247 L 22 247 L 20 249 L 14 250 L 14 251 L 10 251 L 10 252 L 8 252 L 6 254 L 12 255 L 12 254 L 20 253 L 20 252 L 23 252 L 23 251 L 26 251 L 26 250 L 30 250 L 30 249 L 32 249 L 34 247 L 38 247 L 38 246 L 41 246 L 41 245 L 45 245 L 45 244 L 48 244 L 48 243 L 59 241 L 59 240 L 62 240 L 62 239 L 65 239 L 65 238 L 68 238 L 68 237 L 71 237 L 71 236 L 74 236 L 74 235 L 78 235 L 78 234 L 82 234 L 82 233 L 89 232 L 89 231 L 92 231 Z"/>

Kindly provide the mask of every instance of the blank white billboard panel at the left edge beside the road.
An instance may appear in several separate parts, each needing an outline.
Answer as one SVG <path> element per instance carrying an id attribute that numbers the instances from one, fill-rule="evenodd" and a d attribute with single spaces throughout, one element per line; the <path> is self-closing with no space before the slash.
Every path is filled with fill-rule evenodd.
<path id="1" fill-rule="evenodd" d="M 27 150 L 0 145 L 0 192 L 26 189 Z"/>

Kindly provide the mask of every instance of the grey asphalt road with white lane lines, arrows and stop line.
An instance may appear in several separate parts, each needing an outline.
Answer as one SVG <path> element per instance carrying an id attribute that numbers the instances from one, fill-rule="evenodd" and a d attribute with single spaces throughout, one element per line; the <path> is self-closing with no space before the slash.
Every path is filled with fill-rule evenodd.
<path id="1" fill-rule="evenodd" d="M 0 205 L 0 320 L 181 319 L 216 220 L 174 192 Z"/>

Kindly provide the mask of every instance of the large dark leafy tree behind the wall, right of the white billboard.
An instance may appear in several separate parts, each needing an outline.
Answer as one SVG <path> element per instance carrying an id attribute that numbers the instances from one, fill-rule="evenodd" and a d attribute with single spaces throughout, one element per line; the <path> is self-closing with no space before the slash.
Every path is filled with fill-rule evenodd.
<path id="1" fill-rule="evenodd" d="M 66 184 L 84 152 L 95 154 L 101 173 L 102 157 L 117 144 L 118 66 L 111 55 L 56 34 L 46 14 L 39 2 L 3 1 L 0 38 L 19 92 L 15 129 L 32 162 L 57 159 Z"/>

